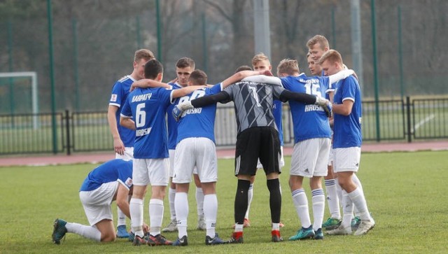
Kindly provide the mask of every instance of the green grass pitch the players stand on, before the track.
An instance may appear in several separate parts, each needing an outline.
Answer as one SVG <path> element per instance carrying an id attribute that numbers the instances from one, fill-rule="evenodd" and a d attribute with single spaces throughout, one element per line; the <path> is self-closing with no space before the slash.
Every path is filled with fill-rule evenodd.
<path id="1" fill-rule="evenodd" d="M 232 175 L 233 160 L 219 160 L 218 163 L 217 232 L 228 239 L 232 233 L 237 180 Z M 205 246 L 205 233 L 195 230 L 195 188 L 192 187 L 189 246 L 186 247 L 132 246 L 126 239 L 99 244 L 76 234 L 67 234 L 59 246 L 52 244 L 55 218 L 87 225 L 78 188 L 95 165 L 0 167 L 3 182 L 0 185 L 0 253 L 446 253 L 447 163 L 448 151 L 363 154 L 358 176 L 377 225 L 362 237 L 325 235 L 323 241 L 270 242 L 269 194 L 265 176 L 258 174 L 251 206 L 251 227 L 244 230 L 244 244 Z M 300 225 L 288 188 L 289 165 L 290 157 L 286 157 L 286 167 L 281 174 L 281 221 L 286 225 L 281 230 L 283 239 L 295 234 Z M 309 194 L 309 188 L 307 192 Z M 146 198 L 144 206 L 147 223 L 148 200 Z M 116 213 L 115 203 L 113 211 Z M 165 198 L 163 225 L 167 223 L 169 209 Z M 174 240 L 177 233 L 168 233 L 165 237 Z"/>

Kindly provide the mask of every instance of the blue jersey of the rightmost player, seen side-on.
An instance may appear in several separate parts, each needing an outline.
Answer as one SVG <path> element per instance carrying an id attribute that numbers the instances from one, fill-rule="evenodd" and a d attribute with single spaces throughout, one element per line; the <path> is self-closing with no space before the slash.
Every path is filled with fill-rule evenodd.
<path id="1" fill-rule="evenodd" d="M 349 99 L 353 101 L 353 108 L 349 115 L 335 114 L 333 148 L 360 147 L 363 143 L 363 136 L 361 134 L 361 92 L 358 80 L 349 76 L 344 80 L 339 80 L 335 87 L 334 103 L 342 104 L 342 101 Z"/>

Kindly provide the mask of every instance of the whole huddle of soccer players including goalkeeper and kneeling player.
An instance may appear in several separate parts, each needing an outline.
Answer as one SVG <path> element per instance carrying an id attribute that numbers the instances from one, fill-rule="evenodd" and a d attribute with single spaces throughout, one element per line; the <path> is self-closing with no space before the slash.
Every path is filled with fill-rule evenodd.
<path id="1" fill-rule="evenodd" d="M 56 219 L 52 241 L 67 232 L 95 241 L 129 238 L 133 245 L 188 246 L 188 190 L 195 181 L 197 229 L 205 244 L 242 244 L 253 196 L 254 176 L 263 169 L 269 190 L 273 242 L 283 241 L 279 174 L 283 161 L 282 103 L 293 118 L 294 148 L 289 186 L 301 227 L 290 241 L 323 239 L 326 234 L 366 234 L 375 223 L 367 209 L 356 172 L 362 136 L 361 97 L 356 74 L 330 50 L 321 35 L 309 39 L 307 61 L 314 76 L 300 73 L 296 60 L 283 59 L 272 75 L 269 59 L 255 55 L 216 85 L 195 69 L 193 59 L 176 63 L 177 78 L 162 83 L 163 66 L 146 49 L 134 54 L 134 70 L 118 80 L 109 101 L 108 121 L 116 159 L 92 170 L 79 195 L 90 226 Z M 252 70 L 253 69 L 253 70 Z M 218 166 L 214 125 L 217 103 L 234 102 L 235 145 L 234 231 L 228 240 L 215 230 L 218 213 Z M 309 178 L 313 221 L 302 186 Z M 330 218 L 323 221 L 325 192 Z M 144 197 L 151 185 L 149 225 L 144 223 Z M 169 186 L 169 190 L 166 187 Z M 170 222 L 162 227 L 165 193 Z M 118 206 L 117 230 L 111 203 Z M 341 213 L 342 208 L 342 213 Z M 130 218 L 131 229 L 126 228 Z M 162 232 L 178 232 L 174 241 Z"/>

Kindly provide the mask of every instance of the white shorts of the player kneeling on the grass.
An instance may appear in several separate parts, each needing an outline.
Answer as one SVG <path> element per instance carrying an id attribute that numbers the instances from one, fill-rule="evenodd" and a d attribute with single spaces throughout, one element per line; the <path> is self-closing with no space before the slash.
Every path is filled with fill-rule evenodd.
<path id="1" fill-rule="evenodd" d="M 103 183 L 96 190 L 79 192 L 79 199 L 91 226 L 102 220 L 113 220 L 111 204 L 118 184 L 117 181 Z"/>

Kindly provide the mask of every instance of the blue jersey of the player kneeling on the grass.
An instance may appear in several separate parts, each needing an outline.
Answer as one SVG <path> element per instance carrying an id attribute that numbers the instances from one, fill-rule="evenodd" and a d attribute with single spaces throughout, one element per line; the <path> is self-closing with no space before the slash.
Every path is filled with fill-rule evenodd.
<path id="1" fill-rule="evenodd" d="M 109 160 L 90 171 L 79 191 L 97 190 L 103 183 L 118 181 L 127 190 L 132 187 L 132 160 Z"/>

